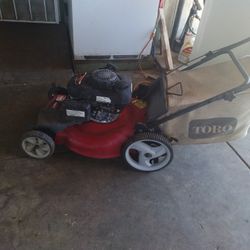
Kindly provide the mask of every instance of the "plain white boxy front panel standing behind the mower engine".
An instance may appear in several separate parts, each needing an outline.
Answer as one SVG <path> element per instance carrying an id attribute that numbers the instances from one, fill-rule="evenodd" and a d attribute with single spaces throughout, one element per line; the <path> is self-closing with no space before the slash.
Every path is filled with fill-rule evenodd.
<path id="1" fill-rule="evenodd" d="M 75 59 L 83 59 L 88 55 L 138 55 L 154 28 L 159 0 L 69 0 L 69 3 Z M 150 50 L 149 46 L 144 54 Z"/>

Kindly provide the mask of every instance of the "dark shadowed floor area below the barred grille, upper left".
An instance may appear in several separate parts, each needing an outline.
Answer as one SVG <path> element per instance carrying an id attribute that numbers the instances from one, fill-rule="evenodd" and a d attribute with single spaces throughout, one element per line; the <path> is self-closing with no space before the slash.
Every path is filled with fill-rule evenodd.
<path id="1" fill-rule="evenodd" d="M 63 24 L 0 22 L 0 84 L 58 82 L 72 73 Z"/>

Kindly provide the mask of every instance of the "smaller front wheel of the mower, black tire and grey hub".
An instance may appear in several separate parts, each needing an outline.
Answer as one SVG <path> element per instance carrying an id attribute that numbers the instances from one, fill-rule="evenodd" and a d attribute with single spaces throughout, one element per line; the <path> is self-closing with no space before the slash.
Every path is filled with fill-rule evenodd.
<path id="1" fill-rule="evenodd" d="M 32 130 L 22 136 L 21 148 L 29 157 L 43 160 L 53 155 L 55 142 L 48 134 Z"/>

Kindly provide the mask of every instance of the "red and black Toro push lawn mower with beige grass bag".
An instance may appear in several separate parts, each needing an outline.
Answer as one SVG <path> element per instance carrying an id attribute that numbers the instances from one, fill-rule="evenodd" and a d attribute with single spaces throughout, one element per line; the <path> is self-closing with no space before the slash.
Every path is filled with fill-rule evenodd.
<path id="1" fill-rule="evenodd" d="M 130 167 L 150 172 L 170 164 L 174 144 L 224 142 L 244 136 L 250 125 L 250 78 L 245 62 L 232 50 L 249 41 L 210 51 L 175 69 L 177 77 L 179 72 L 193 77 L 206 69 L 205 63 L 228 55 L 244 80 L 232 87 L 224 80 L 220 93 L 218 85 L 197 85 L 194 78 L 189 85 L 170 86 L 173 71 L 164 71 L 152 84 L 139 84 L 132 91 L 128 75 L 117 73 L 111 64 L 74 76 L 66 88 L 52 86 L 47 106 L 34 129 L 23 135 L 21 147 L 28 156 L 45 159 L 61 144 L 91 158 L 122 156 Z M 231 71 L 224 64 L 212 66 L 224 70 L 223 79 Z M 177 85 L 179 94 L 171 91 Z"/>

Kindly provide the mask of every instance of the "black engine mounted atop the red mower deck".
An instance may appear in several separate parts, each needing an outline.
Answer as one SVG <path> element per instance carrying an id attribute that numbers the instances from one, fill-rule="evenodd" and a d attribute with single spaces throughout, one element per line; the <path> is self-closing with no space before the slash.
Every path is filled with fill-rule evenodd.
<path id="1" fill-rule="evenodd" d="M 72 77 L 67 89 L 52 87 L 49 96 L 54 98 L 56 105 L 52 101 L 50 108 L 56 109 L 61 113 L 60 117 L 64 117 L 60 123 L 62 120 L 70 125 L 88 121 L 110 123 L 130 103 L 131 86 L 127 75 L 120 75 L 112 65 L 107 65 L 91 73 Z M 41 116 L 39 125 L 44 127 L 44 120 L 47 120 L 44 119 L 44 112 Z"/>

